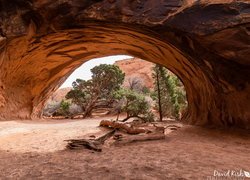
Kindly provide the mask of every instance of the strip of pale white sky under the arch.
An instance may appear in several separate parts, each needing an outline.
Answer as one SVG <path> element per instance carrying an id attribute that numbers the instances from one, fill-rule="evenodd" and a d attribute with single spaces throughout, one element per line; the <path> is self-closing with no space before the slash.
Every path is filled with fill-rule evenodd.
<path id="1" fill-rule="evenodd" d="M 68 79 L 62 84 L 60 88 L 72 87 L 72 82 L 76 79 L 88 80 L 91 78 L 90 69 L 100 64 L 114 64 L 115 61 L 132 58 L 131 56 L 118 55 L 118 56 L 107 56 L 103 58 L 96 58 L 83 63 L 77 68 Z"/>

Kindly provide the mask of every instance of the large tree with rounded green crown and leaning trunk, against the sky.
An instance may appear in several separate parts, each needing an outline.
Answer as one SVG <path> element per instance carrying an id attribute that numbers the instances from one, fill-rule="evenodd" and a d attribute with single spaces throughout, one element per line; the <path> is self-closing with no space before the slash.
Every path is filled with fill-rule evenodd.
<path id="1" fill-rule="evenodd" d="M 67 99 L 82 107 L 84 117 L 90 116 L 99 106 L 110 106 L 114 101 L 112 94 L 120 89 L 125 76 L 118 66 L 108 64 L 95 66 L 91 72 L 92 79 L 77 79 L 66 95 Z"/>

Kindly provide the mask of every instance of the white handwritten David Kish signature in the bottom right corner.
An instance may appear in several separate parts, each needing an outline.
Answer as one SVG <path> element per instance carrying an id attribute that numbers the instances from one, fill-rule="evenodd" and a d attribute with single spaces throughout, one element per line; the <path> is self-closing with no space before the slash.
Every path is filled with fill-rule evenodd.
<path id="1" fill-rule="evenodd" d="M 240 170 L 225 170 L 219 171 L 214 170 L 212 176 L 208 176 L 207 179 L 250 179 L 250 171 L 246 171 L 243 169 Z"/>

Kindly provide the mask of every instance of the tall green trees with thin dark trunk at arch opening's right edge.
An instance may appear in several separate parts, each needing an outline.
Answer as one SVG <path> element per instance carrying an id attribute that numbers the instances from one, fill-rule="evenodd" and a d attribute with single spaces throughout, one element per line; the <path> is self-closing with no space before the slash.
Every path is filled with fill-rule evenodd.
<path id="1" fill-rule="evenodd" d="M 163 116 L 178 118 L 181 109 L 186 106 L 185 90 L 181 81 L 160 65 L 153 68 L 153 78 L 155 88 L 152 97 L 157 101 L 160 121 Z"/>

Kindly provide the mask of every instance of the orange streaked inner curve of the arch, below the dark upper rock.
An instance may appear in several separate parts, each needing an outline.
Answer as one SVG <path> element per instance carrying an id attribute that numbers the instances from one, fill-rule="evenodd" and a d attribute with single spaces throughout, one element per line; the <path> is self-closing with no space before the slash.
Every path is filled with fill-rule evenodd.
<path id="1" fill-rule="evenodd" d="M 163 65 L 181 79 L 189 103 L 183 121 L 195 125 L 247 125 L 248 107 L 241 105 L 245 91 L 237 95 L 240 111 L 229 111 L 235 99 L 220 93 L 211 65 L 200 65 L 149 29 L 89 22 L 83 28 L 33 38 L 21 36 L 6 43 L 1 52 L 2 58 L 8 59 L 1 66 L 1 119 L 40 118 L 48 97 L 82 63 L 124 54 Z"/>

